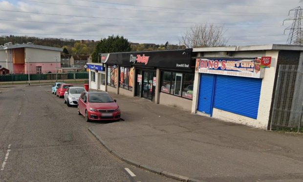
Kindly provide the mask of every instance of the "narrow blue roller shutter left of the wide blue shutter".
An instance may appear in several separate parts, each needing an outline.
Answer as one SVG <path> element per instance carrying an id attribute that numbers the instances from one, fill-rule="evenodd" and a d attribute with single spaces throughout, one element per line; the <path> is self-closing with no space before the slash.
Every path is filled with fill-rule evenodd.
<path id="1" fill-rule="evenodd" d="M 215 75 L 201 74 L 199 100 L 198 100 L 198 108 L 197 108 L 199 112 L 205 114 L 212 113 L 212 105 L 214 100 L 213 99 L 214 84 L 215 84 Z"/>

